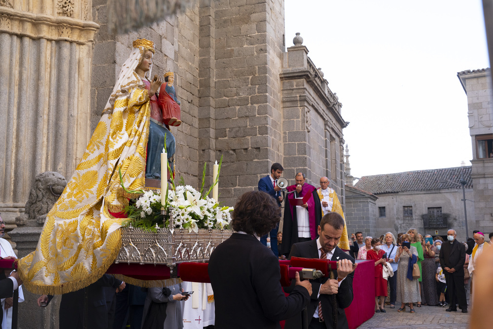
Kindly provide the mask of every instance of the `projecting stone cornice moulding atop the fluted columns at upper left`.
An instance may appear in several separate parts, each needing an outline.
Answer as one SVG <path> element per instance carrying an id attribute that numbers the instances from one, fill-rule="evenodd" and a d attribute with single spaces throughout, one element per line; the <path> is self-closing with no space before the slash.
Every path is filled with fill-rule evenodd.
<path id="1" fill-rule="evenodd" d="M 32 39 L 65 40 L 79 44 L 93 42 L 99 24 L 70 17 L 33 14 L 0 7 L 0 32 Z"/>

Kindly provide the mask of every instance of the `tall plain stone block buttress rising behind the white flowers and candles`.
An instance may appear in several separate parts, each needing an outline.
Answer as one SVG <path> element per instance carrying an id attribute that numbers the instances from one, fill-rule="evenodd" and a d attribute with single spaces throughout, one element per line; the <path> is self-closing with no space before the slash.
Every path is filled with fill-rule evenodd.
<path id="1" fill-rule="evenodd" d="M 215 1 L 215 150 L 221 201 L 257 186 L 282 162 L 279 73 L 283 1 Z"/>

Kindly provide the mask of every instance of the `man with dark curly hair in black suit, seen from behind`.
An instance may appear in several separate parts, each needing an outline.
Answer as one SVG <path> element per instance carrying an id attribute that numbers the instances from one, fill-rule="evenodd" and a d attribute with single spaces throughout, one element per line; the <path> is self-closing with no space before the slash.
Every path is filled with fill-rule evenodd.
<path id="1" fill-rule="evenodd" d="M 246 192 L 236 203 L 231 225 L 237 233 L 217 246 L 209 259 L 214 328 L 281 328 L 279 321 L 308 304 L 310 282 L 300 281 L 296 274 L 293 290 L 285 296 L 279 259 L 259 241 L 279 222 L 280 213 L 274 199 L 261 191 Z"/>

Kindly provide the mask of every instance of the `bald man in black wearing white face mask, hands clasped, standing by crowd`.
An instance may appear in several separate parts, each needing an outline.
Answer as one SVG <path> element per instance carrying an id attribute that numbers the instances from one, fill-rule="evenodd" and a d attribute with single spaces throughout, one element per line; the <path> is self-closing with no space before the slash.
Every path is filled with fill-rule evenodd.
<path id="1" fill-rule="evenodd" d="M 457 303 L 462 313 L 467 313 L 467 301 L 464 287 L 465 247 L 456 240 L 457 233 L 447 231 L 447 240 L 440 249 L 440 266 L 442 266 L 449 292 L 450 307 L 447 312 L 457 311 Z"/>

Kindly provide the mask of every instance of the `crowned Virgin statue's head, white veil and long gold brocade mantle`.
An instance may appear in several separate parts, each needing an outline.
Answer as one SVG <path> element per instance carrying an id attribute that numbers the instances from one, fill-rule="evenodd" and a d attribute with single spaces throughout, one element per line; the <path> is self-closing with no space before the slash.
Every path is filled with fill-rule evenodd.
<path id="1" fill-rule="evenodd" d="M 150 97 L 161 80 L 152 68 L 154 43 L 133 42 L 89 145 L 45 220 L 36 250 L 18 269 L 31 292 L 62 294 L 97 281 L 120 250 L 120 225 L 131 190 L 145 185 Z"/>

